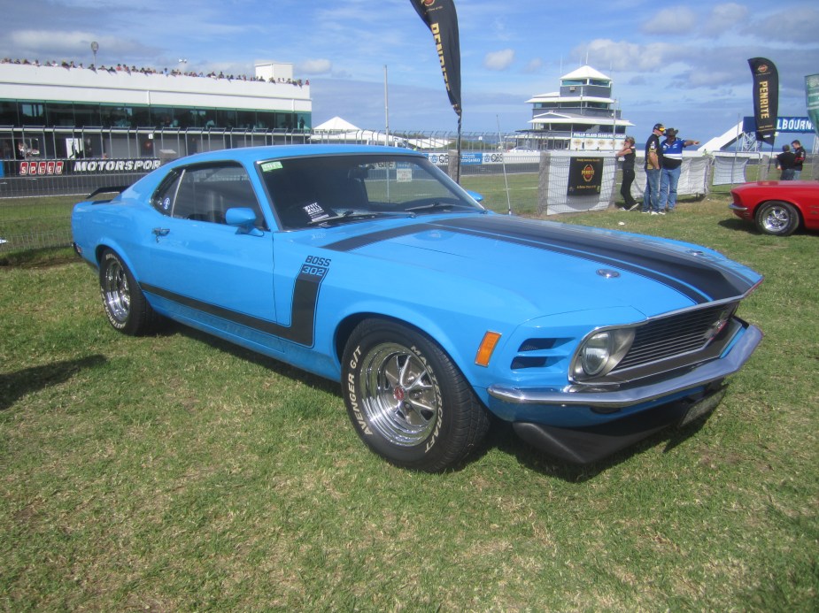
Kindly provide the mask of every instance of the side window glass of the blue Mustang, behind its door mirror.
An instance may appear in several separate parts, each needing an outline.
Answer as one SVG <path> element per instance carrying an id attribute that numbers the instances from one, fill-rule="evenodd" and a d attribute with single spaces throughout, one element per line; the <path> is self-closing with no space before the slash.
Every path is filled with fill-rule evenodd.
<path id="1" fill-rule="evenodd" d="M 220 163 L 185 167 L 168 177 L 151 200 L 158 211 L 174 218 L 226 223 L 225 214 L 233 207 L 256 213 L 256 226 L 267 229 L 259 200 L 243 166 Z"/>

